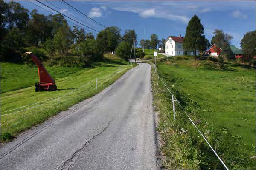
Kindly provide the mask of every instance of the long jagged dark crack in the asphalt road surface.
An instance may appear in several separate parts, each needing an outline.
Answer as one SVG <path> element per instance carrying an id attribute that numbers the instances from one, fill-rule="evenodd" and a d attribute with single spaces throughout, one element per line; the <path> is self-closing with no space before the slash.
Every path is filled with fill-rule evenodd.
<path id="1" fill-rule="evenodd" d="M 98 133 L 97 135 L 93 136 L 92 139 L 90 139 L 85 144 L 83 144 L 80 149 L 76 150 L 76 152 L 73 153 L 71 158 L 64 162 L 64 164 L 61 166 L 61 170 L 69 170 L 71 165 L 73 165 L 77 161 L 77 159 L 79 158 L 79 155 L 83 152 L 84 148 L 89 146 L 90 141 L 92 141 L 96 136 L 101 135 L 109 127 L 111 121 L 108 122 L 108 125 L 100 133 Z"/>

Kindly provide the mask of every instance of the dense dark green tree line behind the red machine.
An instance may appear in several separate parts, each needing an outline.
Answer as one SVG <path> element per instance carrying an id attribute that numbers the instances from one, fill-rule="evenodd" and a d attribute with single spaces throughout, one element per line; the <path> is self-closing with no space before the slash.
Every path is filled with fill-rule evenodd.
<path id="1" fill-rule="evenodd" d="M 77 25 L 71 28 L 61 14 L 47 16 L 36 9 L 30 12 L 18 2 L 0 2 L 1 62 L 22 62 L 20 54 L 32 50 L 53 65 L 64 61 L 84 66 L 102 60 L 104 53 L 122 51 L 123 46 L 130 51 L 133 39 L 137 43 L 135 30 L 125 30 L 122 36 L 120 28 L 110 26 L 94 36 Z"/>

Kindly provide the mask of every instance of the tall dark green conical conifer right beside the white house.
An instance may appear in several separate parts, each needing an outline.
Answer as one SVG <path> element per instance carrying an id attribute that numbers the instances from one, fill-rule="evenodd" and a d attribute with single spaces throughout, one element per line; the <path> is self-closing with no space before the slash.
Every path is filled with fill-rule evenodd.
<path id="1" fill-rule="evenodd" d="M 204 26 L 201 24 L 198 16 L 194 15 L 186 27 L 186 34 L 183 40 L 183 49 L 185 51 L 196 51 L 204 50 L 205 40 L 204 40 Z"/>

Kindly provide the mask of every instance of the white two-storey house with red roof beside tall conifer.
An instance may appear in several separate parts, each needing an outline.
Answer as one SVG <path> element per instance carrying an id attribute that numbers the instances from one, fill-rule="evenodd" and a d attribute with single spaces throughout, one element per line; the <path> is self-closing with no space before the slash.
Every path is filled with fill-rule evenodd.
<path id="1" fill-rule="evenodd" d="M 165 42 L 165 53 L 172 56 L 179 55 L 194 55 L 192 51 L 183 50 L 183 39 L 184 37 L 169 36 Z M 196 55 L 199 55 L 199 50 L 196 51 Z"/>

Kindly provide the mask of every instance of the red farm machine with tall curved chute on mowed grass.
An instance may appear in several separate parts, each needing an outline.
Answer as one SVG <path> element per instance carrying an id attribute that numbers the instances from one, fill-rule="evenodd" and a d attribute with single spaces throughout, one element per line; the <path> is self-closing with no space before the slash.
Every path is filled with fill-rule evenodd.
<path id="1" fill-rule="evenodd" d="M 54 79 L 50 76 L 47 70 L 44 68 L 42 62 L 35 56 L 32 52 L 26 52 L 25 54 L 29 54 L 32 60 L 35 62 L 35 65 L 38 66 L 38 76 L 39 83 L 35 83 L 35 92 L 38 91 L 55 91 L 57 90 L 57 86 L 55 84 Z"/>

